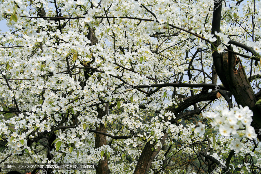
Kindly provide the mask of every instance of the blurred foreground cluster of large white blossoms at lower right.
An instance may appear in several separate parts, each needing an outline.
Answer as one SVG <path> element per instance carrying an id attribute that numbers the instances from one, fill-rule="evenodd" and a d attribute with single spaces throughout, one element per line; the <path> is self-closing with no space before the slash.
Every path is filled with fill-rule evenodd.
<path id="1" fill-rule="evenodd" d="M 241 139 L 247 137 L 251 140 L 255 139 L 257 134 L 254 128 L 251 126 L 253 112 L 248 106 L 244 108 L 240 105 L 239 108 L 216 108 L 215 112 L 202 113 L 205 118 L 209 118 L 211 125 L 218 130 L 220 135 L 224 137 L 235 138 L 231 141 L 231 149 L 236 153 L 240 151 L 242 144 Z M 199 127 L 195 129 L 199 133 L 199 136 L 204 135 L 205 125 L 198 122 Z"/>

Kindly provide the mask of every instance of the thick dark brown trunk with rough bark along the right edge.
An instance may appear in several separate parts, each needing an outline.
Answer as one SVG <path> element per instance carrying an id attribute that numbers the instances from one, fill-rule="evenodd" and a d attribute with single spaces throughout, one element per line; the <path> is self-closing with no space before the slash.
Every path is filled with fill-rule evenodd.
<path id="1" fill-rule="evenodd" d="M 215 7 L 217 8 L 215 9 Z M 222 0 L 219 3 L 215 3 L 214 9 L 212 34 L 215 34 L 215 31 L 220 32 Z M 220 40 L 217 38 L 217 44 L 219 43 Z M 214 49 L 214 46 L 212 46 L 212 49 Z M 232 47 L 229 46 L 228 49 L 232 50 Z M 258 134 L 258 129 L 261 128 L 261 106 L 260 104 L 255 104 L 255 93 L 239 58 L 231 52 L 220 54 L 217 51 L 214 51 L 212 56 L 218 77 L 222 84 L 230 89 L 238 105 L 242 105 L 243 107 L 248 106 L 253 111 L 253 122 L 251 123 L 251 126 L 255 128 L 255 131 Z M 236 69 L 237 64 L 238 69 Z M 258 139 L 261 140 L 261 135 L 258 135 Z"/>

